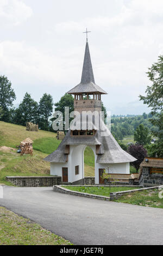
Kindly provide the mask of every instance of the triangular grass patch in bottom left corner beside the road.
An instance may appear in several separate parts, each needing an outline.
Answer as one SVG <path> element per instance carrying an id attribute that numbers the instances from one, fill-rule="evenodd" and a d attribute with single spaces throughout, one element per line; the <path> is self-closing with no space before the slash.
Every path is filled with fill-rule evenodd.
<path id="1" fill-rule="evenodd" d="M 26 218 L 0 207 L 0 245 L 72 245 Z"/>

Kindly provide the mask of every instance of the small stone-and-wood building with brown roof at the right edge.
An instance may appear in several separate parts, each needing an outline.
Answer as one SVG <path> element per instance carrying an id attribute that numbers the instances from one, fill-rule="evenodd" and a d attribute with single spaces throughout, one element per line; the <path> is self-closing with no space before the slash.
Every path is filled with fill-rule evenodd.
<path id="1" fill-rule="evenodd" d="M 140 169 L 143 186 L 163 185 L 163 158 L 146 157 L 140 164 Z"/>

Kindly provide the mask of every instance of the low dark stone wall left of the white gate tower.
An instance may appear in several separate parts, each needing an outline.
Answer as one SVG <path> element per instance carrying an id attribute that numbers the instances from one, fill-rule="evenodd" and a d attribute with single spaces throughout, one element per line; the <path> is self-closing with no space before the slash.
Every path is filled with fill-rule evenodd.
<path id="1" fill-rule="evenodd" d="M 61 184 L 61 176 L 7 176 L 18 187 L 52 187 Z"/>

